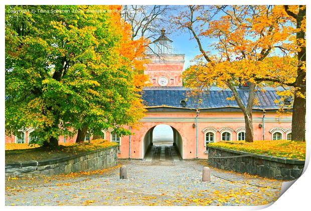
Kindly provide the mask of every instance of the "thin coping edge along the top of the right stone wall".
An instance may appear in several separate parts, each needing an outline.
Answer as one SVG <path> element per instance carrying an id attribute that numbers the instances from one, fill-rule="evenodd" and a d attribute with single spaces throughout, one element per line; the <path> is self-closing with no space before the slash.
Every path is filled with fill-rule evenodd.
<path id="1" fill-rule="evenodd" d="M 235 153 L 235 154 L 239 154 L 239 155 L 249 155 L 250 157 L 259 158 L 262 160 L 269 160 L 269 161 L 285 163 L 285 164 L 304 165 L 304 162 L 305 162 L 304 160 L 293 160 L 293 159 L 278 158 L 278 157 L 267 156 L 267 155 L 257 155 L 257 154 L 253 154 L 253 153 L 237 151 L 237 150 L 232 150 L 232 149 L 226 149 L 226 148 L 221 148 L 221 147 L 208 147 L 208 148 L 223 150 L 223 151 L 227 151 L 227 152 L 231 152 L 231 153 Z"/>

